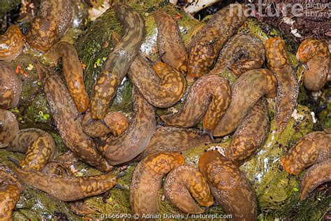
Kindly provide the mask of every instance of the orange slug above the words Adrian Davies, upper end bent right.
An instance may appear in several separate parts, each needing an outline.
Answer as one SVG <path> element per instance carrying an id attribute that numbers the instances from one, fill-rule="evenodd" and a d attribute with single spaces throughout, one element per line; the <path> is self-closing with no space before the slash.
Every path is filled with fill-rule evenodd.
<path id="1" fill-rule="evenodd" d="M 156 214 L 157 195 L 166 173 L 184 164 L 184 157 L 177 152 L 149 155 L 135 167 L 130 185 L 130 204 L 134 213 Z"/>

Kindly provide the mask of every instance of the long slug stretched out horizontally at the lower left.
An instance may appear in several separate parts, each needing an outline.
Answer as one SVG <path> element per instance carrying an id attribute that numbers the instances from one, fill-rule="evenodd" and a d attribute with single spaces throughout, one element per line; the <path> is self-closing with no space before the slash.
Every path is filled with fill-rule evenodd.
<path id="1" fill-rule="evenodd" d="M 117 176 L 112 173 L 73 177 L 25 171 L 19 168 L 14 168 L 14 172 L 24 183 L 47 192 L 61 201 L 75 201 L 96 196 L 112 189 L 117 182 Z"/>

